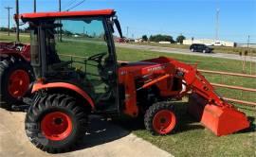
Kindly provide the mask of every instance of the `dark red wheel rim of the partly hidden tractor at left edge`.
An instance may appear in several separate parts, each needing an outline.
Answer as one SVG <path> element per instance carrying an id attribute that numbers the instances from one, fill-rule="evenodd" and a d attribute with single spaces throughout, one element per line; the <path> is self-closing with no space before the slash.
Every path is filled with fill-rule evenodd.
<path id="1" fill-rule="evenodd" d="M 30 79 L 27 71 L 15 70 L 9 76 L 8 91 L 12 97 L 24 96 L 27 92 Z"/>

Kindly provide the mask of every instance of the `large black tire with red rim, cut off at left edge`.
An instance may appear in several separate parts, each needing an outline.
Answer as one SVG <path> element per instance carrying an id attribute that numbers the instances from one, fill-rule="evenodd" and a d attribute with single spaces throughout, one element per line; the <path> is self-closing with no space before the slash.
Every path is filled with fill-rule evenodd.
<path id="1" fill-rule="evenodd" d="M 20 97 L 26 96 L 33 78 L 32 68 L 26 62 L 15 58 L 0 61 L 0 95 L 6 108 L 22 104 Z"/>

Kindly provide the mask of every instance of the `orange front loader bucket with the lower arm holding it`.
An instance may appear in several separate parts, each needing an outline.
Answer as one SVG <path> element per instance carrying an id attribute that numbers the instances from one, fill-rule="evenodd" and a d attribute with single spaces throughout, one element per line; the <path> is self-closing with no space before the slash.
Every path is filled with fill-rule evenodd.
<path id="1" fill-rule="evenodd" d="M 185 96 L 192 91 L 189 96 L 188 113 L 217 136 L 249 127 L 246 114 L 218 96 L 210 82 L 197 71 L 195 66 L 179 61 L 171 62 L 175 65 L 176 77 L 182 78 L 186 85 L 186 90 L 183 90 L 179 96 Z"/>

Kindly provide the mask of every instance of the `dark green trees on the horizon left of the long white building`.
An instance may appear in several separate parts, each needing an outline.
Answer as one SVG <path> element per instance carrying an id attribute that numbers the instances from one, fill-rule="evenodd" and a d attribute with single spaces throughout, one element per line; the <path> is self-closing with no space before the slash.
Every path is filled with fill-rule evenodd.
<path id="1" fill-rule="evenodd" d="M 142 36 L 142 41 L 143 42 L 170 42 L 171 44 L 174 43 L 180 43 L 183 44 L 183 40 L 185 40 L 186 37 L 183 35 L 177 36 L 176 40 L 170 35 L 162 35 L 162 34 L 156 34 L 156 35 L 151 35 L 149 38 L 147 35 Z"/>

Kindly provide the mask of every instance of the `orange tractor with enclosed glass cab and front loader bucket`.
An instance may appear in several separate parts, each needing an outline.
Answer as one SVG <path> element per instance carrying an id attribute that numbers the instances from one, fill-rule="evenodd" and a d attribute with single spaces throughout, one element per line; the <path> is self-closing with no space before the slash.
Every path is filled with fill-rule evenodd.
<path id="1" fill-rule="evenodd" d="M 86 132 L 89 114 L 137 117 L 147 130 L 173 132 L 173 99 L 190 94 L 189 112 L 216 135 L 249 127 L 245 113 L 217 96 L 193 65 L 173 59 L 118 62 L 113 9 L 25 13 L 31 29 L 36 81 L 26 116 L 29 140 L 48 152 L 72 148 Z"/>

